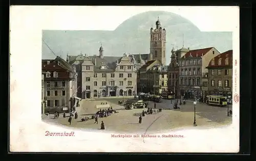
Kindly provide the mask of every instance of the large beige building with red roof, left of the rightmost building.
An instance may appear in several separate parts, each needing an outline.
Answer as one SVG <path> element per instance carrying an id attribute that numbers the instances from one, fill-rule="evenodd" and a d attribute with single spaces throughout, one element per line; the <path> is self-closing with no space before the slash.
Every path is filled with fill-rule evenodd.
<path id="1" fill-rule="evenodd" d="M 189 50 L 179 59 L 180 93 L 185 99 L 203 96 L 202 77 L 208 73 L 206 66 L 209 61 L 219 55 L 214 47 Z"/>

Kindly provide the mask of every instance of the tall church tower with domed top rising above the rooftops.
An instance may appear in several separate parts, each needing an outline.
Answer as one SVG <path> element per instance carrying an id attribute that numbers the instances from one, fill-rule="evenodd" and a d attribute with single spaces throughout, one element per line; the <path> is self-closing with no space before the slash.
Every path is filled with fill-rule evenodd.
<path id="1" fill-rule="evenodd" d="M 150 30 L 150 59 L 159 60 L 166 65 L 166 30 L 161 27 L 161 22 L 156 21 L 156 29 Z"/>

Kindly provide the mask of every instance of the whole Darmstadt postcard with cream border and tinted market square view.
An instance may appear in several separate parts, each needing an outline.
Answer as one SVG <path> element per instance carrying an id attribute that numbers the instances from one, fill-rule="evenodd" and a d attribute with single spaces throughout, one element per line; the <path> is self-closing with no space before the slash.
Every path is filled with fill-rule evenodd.
<path id="1" fill-rule="evenodd" d="M 10 152 L 238 152 L 239 7 L 11 6 Z"/>

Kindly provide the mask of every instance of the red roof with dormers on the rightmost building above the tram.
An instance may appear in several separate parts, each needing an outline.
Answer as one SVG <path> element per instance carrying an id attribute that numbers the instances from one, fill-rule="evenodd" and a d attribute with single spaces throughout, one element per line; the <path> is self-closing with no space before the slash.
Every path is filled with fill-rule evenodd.
<path id="1" fill-rule="evenodd" d="M 207 67 L 224 67 L 224 66 L 232 66 L 233 61 L 233 50 L 226 51 L 212 58 Z M 228 59 L 228 64 L 225 64 L 225 60 Z M 211 62 L 214 61 L 214 64 Z M 221 61 L 221 64 L 219 64 Z"/>

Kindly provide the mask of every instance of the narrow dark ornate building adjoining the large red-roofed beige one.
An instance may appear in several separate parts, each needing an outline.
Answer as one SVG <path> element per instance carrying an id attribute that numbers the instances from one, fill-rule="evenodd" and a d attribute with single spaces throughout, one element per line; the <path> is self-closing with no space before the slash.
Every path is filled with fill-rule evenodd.
<path id="1" fill-rule="evenodd" d="M 180 98 L 179 89 L 179 63 L 178 53 L 171 51 L 170 64 L 168 66 L 168 92 L 175 95 L 175 98 Z"/>

